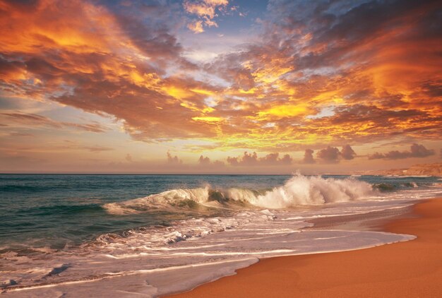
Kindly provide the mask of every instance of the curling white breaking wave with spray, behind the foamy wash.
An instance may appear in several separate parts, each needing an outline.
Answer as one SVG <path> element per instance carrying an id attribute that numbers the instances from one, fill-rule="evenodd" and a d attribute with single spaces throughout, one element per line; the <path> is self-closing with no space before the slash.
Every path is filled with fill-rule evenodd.
<path id="1" fill-rule="evenodd" d="M 152 210 L 197 209 L 205 207 L 232 208 L 247 205 L 257 208 L 293 208 L 299 205 L 323 205 L 354 201 L 374 194 L 371 184 L 354 178 L 324 179 L 297 174 L 284 185 L 272 190 L 229 188 L 172 189 L 144 198 L 136 198 L 103 206 L 108 213 L 124 215 Z"/>

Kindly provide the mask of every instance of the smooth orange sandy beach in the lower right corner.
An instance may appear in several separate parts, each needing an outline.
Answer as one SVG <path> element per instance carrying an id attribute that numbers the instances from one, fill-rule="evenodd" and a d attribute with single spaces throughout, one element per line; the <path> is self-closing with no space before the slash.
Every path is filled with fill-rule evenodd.
<path id="1" fill-rule="evenodd" d="M 417 239 L 328 254 L 265 258 L 171 297 L 441 297 L 442 198 L 379 230 Z"/>

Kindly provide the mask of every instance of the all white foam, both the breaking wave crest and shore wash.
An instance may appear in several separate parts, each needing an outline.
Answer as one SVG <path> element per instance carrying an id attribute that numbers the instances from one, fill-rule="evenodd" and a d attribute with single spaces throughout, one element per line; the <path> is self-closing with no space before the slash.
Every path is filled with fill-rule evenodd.
<path id="1" fill-rule="evenodd" d="M 440 192 L 440 188 L 410 189 L 381 196 L 368 184 L 354 179 L 337 181 L 299 175 L 266 192 L 229 189 L 222 192 L 229 198 L 227 203 L 217 202 L 224 204 L 222 208 L 229 208 L 231 201 L 246 201 L 265 209 L 246 205 L 246 209 L 229 212 L 230 216 L 178 220 L 169 227 L 148 227 L 128 231 L 124 236 L 103 234 L 94 242 L 50 254 L 2 254 L 0 267 L 6 268 L 2 280 L 18 283 L 6 287 L 5 297 L 14 293 L 20 293 L 20 297 L 27 293 L 42 297 L 155 297 L 234 274 L 237 268 L 249 266 L 259 258 L 407 241 L 414 236 L 364 231 L 357 225 L 339 226 L 349 230 L 315 228 L 306 220 L 394 212 L 409 206 L 414 198 L 434 197 Z M 374 196 L 368 198 L 370 194 Z M 167 191 L 106 206 L 125 214 L 174 208 L 182 200 L 212 203 L 210 188 Z M 358 230 L 350 230 L 354 228 Z M 49 275 L 65 264 L 66 270 Z"/>

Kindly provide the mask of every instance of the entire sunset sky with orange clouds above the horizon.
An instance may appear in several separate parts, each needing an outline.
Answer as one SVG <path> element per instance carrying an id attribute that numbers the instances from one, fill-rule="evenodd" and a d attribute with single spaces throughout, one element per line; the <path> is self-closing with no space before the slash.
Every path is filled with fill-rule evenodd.
<path id="1" fill-rule="evenodd" d="M 442 162 L 442 2 L 0 0 L 0 172 Z"/>

